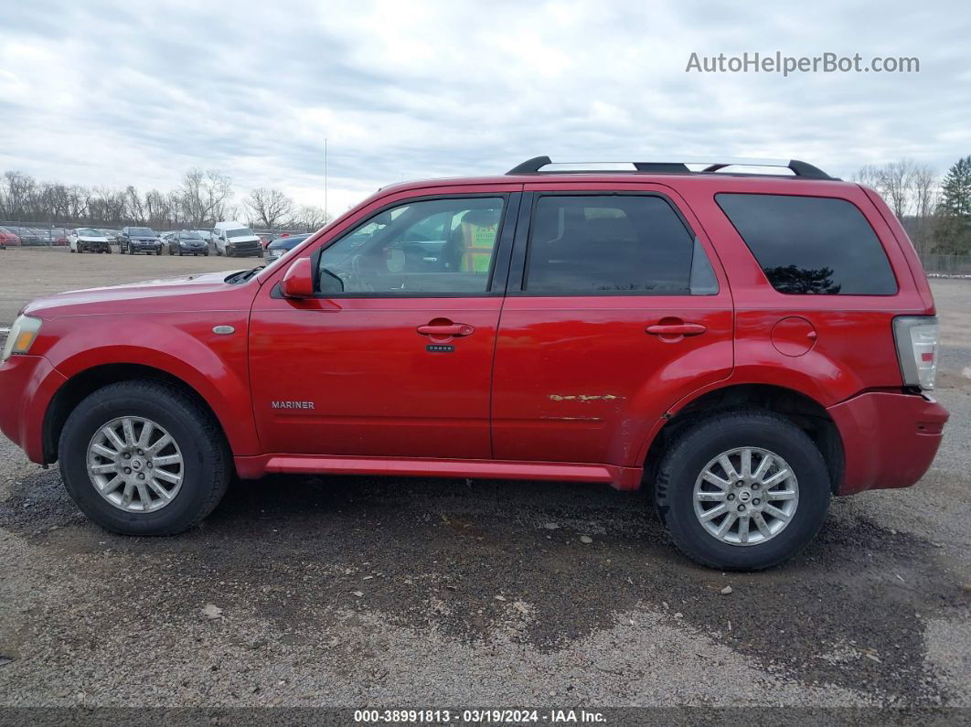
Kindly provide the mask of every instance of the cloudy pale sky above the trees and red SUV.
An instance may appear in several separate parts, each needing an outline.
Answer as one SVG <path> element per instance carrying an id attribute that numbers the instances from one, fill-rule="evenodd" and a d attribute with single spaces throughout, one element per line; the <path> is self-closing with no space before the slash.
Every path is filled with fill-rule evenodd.
<path id="1" fill-rule="evenodd" d="M 170 189 L 217 168 L 340 214 L 392 182 L 553 160 L 971 154 L 966 2 L 0 1 L 0 171 Z M 686 72 L 917 57 L 920 73 Z M 750 55 L 751 57 L 751 55 Z"/>

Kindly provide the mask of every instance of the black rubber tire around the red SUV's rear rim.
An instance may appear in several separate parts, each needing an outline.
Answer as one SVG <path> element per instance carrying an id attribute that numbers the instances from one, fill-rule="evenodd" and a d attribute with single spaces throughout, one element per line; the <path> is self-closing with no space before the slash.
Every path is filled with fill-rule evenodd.
<path id="1" fill-rule="evenodd" d="M 720 453 L 743 446 L 776 453 L 798 481 L 791 519 L 761 544 L 723 543 L 694 512 L 694 484 L 706 465 Z M 691 425 L 664 452 L 654 481 L 654 502 L 671 540 L 689 558 L 721 570 L 758 571 L 791 558 L 820 531 L 829 497 L 829 472 L 809 435 L 787 418 L 761 410 L 713 414 Z"/>

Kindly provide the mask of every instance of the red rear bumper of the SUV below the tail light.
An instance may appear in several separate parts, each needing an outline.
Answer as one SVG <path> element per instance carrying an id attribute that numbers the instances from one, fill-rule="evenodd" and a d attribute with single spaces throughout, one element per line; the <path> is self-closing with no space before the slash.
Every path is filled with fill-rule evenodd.
<path id="1" fill-rule="evenodd" d="M 928 396 L 882 391 L 860 394 L 827 412 L 843 440 L 840 495 L 917 482 L 934 461 L 950 416 Z"/>

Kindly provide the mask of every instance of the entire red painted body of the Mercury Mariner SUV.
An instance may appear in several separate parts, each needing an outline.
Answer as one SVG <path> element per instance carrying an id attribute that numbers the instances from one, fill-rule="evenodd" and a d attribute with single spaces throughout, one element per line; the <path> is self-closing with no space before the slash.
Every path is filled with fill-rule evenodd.
<path id="1" fill-rule="evenodd" d="M 841 493 L 921 477 L 947 413 L 890 393 L 902 389 L 891 321 L 933 314 L 933 299 L 899 222 L 856 184 L 630 174 L 410 182 L 380 190 L 288 260 L 308 259 L 391 203 L 555 190 L 663 194 L 706 250 L 719 293 L 291 300 L 273 293 L 282 264 L 237 285 L 202 275 L 59 294 L 26 307 L 44 320 L 41 333 L 30 355 L 0 365 L 0 429 L 41 462 L 58 389 L 92 367 L 138 364 L 184 380 L 212 407 L 242 477 L 344 472 L 634 488 L 668 417 L 709 391 L 758 383 L 800 392 L 830 413 L 846 450 Z M 720 192 L 852 202 L 886 249 L 898 292 L 777 292 L 717 205 Z M 418 329 L 435 318 L 474 332 L 456 337 L 452 352 L 428 351 Z M 805 323 L 783 324 L 773 344 L 787 318 Z M 658 324 L 705 331 L 645 331 Z M 235 331 L 217 335 L 218 325 Z"/>

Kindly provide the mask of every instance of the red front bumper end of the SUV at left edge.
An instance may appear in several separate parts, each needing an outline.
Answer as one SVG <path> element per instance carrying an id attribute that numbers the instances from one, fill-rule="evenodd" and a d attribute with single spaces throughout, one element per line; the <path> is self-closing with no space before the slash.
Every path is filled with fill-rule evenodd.
<path id="1" fill-rule="evenodd" d="M 44 464 L 44 416 L 65 381 L 44 356 L 11 356 L 0 364 L 0 431 L 32 462 Z"/>

